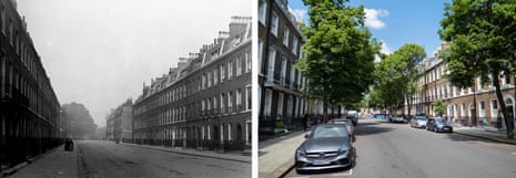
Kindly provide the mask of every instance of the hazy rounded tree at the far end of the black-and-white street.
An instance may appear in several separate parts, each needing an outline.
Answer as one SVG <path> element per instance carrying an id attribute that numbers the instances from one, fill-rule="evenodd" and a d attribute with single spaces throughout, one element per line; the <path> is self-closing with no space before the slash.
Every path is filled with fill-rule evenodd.
<path id="1" fill-rule="evenodd" d="M 70 118 L 70 132 L 73 137 L 83 137 L 95 133 L 97 125 L 83 104 L 74 102 L 64 104 L 62 111 L 64 116 Z"/>

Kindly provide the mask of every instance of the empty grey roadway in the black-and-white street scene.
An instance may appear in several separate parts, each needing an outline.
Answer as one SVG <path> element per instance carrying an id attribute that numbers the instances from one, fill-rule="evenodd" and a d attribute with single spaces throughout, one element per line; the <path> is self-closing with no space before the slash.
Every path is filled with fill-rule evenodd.
<path id="1" fill-rule="evenodd" d="M 195 157 L 111 142 L 77 142 L 81 178 L 251 177 L 251 164 Z"/>

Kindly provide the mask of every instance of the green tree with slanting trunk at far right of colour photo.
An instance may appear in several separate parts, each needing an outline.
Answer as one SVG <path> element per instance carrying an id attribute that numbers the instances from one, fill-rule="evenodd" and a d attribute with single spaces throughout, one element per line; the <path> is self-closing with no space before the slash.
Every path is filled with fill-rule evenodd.
<path id="1" fill-rule="evenodd" d="M 445 3 L 441 39 L 451 48 L 444 52 L 452 84 L 473 86 L 474 78 L 492 74 L 498 101 L 504 101 L 499 76 L 514 74 L 516 54 L 516 0 L 454 0 Z M 507 125 L 507 137 L 514 138 L 513 119 L 505 102 L 499 102 Z"/>

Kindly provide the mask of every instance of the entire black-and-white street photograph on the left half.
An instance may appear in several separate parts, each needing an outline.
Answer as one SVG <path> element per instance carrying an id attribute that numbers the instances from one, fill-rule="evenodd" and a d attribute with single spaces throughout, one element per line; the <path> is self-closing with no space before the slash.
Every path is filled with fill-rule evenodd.
<path id="1" fill-rule="evenodd" d="M 252 177 L 250 0 L 0 0 L 0 177 Z"/>

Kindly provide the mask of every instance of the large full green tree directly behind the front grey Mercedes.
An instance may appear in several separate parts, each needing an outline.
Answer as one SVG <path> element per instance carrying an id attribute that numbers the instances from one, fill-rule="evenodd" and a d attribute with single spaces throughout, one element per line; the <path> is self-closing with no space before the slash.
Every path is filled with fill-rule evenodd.
<path id="1" fill-rule="evenodd" d="M 307 36 L 306 54 L 296 67 L 310 80 L 305 88 L 310 97 L 328 104 L 353 106 L 363 98 L 373 82 L 374 55 L 380 43 L 364 25 L 364 7 L 346 6 L 346 0 L 304 0 L 310 23 L 303 28 Z"/>

